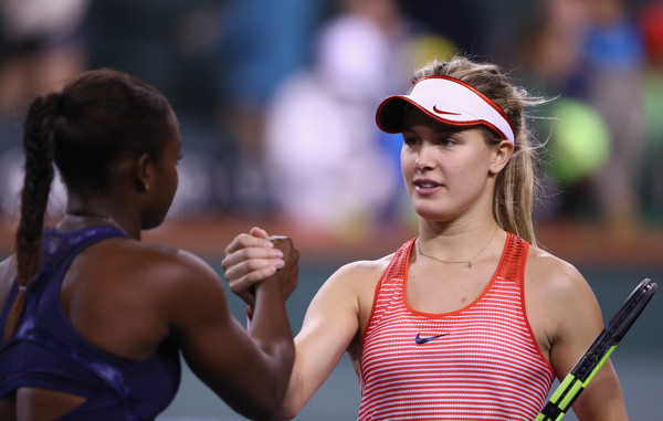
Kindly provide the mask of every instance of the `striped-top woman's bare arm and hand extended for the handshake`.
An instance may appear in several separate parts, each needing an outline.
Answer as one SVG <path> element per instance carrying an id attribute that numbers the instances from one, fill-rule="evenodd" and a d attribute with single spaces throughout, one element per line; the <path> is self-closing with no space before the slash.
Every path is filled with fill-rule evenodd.
<path id="1" fill-rule="evenodd" d="M 230 288 L 246 303 L 252 301 L 252 285 L 278 265 L 278 257 L 263 242 L 266 238 L 259 229 L 238 236 L 231 243 L 236 246 L 231 246 L 233 252 L 223 261 Z M 295 365 L 286 398 L 271 420 L 294 418 L 328 378 L 359 331 L 361 286 L 376 276 L 379 273 L 371 263 L 352 263 L 338 270 L 318 291 L 295 338 Z"/>

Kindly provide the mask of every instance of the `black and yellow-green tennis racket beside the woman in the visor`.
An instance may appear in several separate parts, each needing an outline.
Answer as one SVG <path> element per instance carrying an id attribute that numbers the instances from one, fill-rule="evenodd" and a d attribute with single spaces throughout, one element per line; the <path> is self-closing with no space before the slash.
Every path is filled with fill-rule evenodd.
<path id="1" fill-rule="evenodd" d="M 564 417 L 617 348 L 648 305 L 656 288 L 655 282 L 644 280 L 633 290 L 585 355 L 580 357 L 564 381 L 557 387 L 535 421 L 558 421 Z"/>

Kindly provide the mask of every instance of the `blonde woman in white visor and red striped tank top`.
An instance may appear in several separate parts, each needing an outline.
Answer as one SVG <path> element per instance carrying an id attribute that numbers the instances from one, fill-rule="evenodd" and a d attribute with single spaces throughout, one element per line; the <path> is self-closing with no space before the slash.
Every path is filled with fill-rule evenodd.
<path id="1" fill-rule="evenodd" d="M 603 326 L 569 263 L 536 246 L 526 108 L 541 99 L 466 57 L 415 72 L 377 124 L 402 133 L 401 168 L 419 234 L 396 253 L 347 264 L 311 303 L 280 414 L 290 419 L 345 351 L 368 420 L 532 421 Z M 280 259 L 253 230 L 227 248 L 225 277 L 250 287 Z M 627 420 L 608 362 L 573 404 L 579 420 Z"/>

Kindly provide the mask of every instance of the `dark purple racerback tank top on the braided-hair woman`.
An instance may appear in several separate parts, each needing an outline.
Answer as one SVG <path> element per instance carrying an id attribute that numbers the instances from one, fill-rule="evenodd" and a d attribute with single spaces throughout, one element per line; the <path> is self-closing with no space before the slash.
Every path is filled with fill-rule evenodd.
<path id="1" fill-rule="evenodd" d="M 87 400 L 60 420 L 154 420 L 172 401 L 180 382 L 179 348 L 161 344 L 144 361 L 129 361 L 90 344 L 71 325 L 60 287 L 85 248 L 122 236 L 110 227 L 63 233 L 44 230 L 40 271 L 30 282 L 25 309 L 9 341 L 3 330 L 18 284 L 0 313 L 0 399 L 21 387 L 57 390 Z"/>

